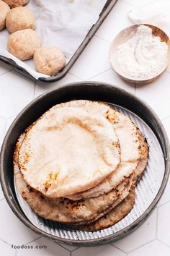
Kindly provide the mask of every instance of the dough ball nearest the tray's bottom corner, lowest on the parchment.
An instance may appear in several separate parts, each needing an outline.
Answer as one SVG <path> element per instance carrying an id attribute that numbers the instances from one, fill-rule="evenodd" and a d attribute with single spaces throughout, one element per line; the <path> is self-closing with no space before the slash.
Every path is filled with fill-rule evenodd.
<path id="1" fill-rule="evenodd" d="M 42 74 L 53 75 L 66 66 L 62 51 L 55 46 L 38 48 L 34 55 L 35 69 Z"/>

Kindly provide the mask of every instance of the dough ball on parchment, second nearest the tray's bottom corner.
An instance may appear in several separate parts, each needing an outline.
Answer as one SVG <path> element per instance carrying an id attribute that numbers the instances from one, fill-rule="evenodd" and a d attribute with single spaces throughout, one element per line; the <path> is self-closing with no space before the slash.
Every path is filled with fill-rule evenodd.
<path id="1" fill-rule="evenodd" d="M 34 30 L 19 30 L 9 35 L 8 51 L 22 61 L 31 59 L 39 47 L 40 38 Z"/>

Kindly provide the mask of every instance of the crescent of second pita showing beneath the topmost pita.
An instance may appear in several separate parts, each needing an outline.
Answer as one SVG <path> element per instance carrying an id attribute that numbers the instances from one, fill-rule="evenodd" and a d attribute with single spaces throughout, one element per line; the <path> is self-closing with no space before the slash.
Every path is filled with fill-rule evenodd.
<path id="1" fill-rule="evenodd" d="M 84 192 L 79 192 L 74 195 L 67 196 L 71 200 L 80 200 L 81 198 L 98 197 L 104 193 L 117 187 L 126 177 L 130 176 L 137 167 L 138 161 L 141 157 L 140 140 L 143 135 L 138 134 L 138 127 L 135 126 L 132 120 L 115 111 L 111 106 L 104 103 L 92 102 L 92 101 L 70 101 L 57 105 L 54 108 L 60 107 L 74 107 L 81 108 L 84 111 L 90 111 L 92 115 L 106 116 L 115 129 L 116 135 L 120 142 L 121 150 L 121 163 L 117 167 L 116 171 L 107 176 L 100 184 L 88 189 Z"/>

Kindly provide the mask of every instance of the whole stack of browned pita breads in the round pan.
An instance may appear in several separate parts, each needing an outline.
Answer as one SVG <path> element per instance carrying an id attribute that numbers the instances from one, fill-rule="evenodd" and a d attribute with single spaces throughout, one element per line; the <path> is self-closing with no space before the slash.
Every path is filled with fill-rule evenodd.
<path id="1" fill-rule="evenodd" d="M 14 179 L 37 215 L 97 231 L 133 208 L 148 145 L 128 116 L 95 101 L 50 108 L 14 150 Z"/>

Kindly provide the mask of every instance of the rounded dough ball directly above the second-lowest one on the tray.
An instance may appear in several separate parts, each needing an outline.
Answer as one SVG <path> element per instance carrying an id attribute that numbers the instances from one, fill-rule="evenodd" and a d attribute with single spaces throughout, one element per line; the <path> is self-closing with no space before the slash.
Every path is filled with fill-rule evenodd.
<path id="1" fill-rule="evenodd" d="M 11 9 L 6 16 L 6 28 L 9 33 L 27 28 L 35 30 L 35 15 L 26 7 Z"/>

